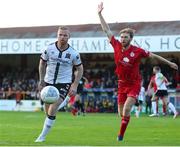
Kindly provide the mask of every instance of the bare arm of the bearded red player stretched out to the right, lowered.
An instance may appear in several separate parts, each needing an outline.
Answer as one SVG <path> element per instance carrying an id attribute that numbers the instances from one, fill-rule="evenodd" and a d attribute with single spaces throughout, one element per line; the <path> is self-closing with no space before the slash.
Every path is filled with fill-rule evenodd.
<path id="1" fill-rule="evenodd" d="M 163 57 L 161 57 L 161 56 L 159 56 L 159 55 L 156 55 L 156 54 L 154 54 L 154 53 L 150 53 L 150 57 L 151 57 L 151 58 L 156 58 L 156 59 L 158 59 L 158 60 L 160 60 L 160 61 L 168 64 L 171 68 L 173 68 L 173 69 L 175 69 L 175 70 L 178 70 L 178 66 L 177 66 L 176 63 L 173 63 L 173 62 L 171 62 L 171 61 L 168 61 L 168 60 L 166 60 L 165 58 L 163 58 Z"/>

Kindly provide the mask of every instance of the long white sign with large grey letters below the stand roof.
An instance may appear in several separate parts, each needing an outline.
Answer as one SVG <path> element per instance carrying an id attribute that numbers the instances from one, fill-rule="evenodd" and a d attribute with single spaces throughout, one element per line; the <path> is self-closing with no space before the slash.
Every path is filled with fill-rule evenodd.
<path id="1" fill-rule="evenodd" d="M 1 39 L 0 54 L 40 54 L 56 38 Z M 71 38 L 69 44 L 80 53 L 113 53 L 107 37 Z M 132 44 L 151 52 L 180 52 L 180 35 L 135 36 Z"/>

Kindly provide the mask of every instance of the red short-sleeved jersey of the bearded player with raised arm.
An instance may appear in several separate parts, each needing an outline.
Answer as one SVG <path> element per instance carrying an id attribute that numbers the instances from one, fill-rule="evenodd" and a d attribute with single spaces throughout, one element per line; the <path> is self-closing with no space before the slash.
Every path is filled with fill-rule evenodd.
<path id="1" fill-rule="evenodd" d="M 114 36 L 110 43 L 114 48 L 115 72 L 119 80 L 128 83 L 140 81 L 139 65 L 141 59 L 148 57 L 150 52 L 133 45 L 130 45 L 129 49 L 123 50 L 122 44 Z"/>

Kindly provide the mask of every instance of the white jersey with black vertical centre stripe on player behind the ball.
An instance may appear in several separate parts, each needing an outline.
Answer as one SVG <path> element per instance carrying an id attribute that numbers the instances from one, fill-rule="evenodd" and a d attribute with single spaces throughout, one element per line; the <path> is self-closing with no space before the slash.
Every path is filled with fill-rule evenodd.
<path id="1" fill-rule="evenodd" d="M 70 45 L 60 51 L 56 44 L 48 45 L 41 54 L 41 59 L 47 62 L 44 81 L 49 84 L 71 83 L 73 66 L 82 64 L 80 54 Z"/>

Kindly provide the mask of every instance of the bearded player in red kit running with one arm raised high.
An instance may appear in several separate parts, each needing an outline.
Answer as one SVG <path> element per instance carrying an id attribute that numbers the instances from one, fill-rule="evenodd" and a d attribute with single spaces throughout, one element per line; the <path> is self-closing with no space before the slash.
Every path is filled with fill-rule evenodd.
<path id="1" fill-rule="evenodd" d="M 103 3 L 100 3 L 98 5 L 98 16 L 101 26 L 114 49 L 115 72 L 118 76 L 118 107 L 122 116 L 117 139 L 122 141 L 130 120 L 131 108 L 135 104 L 141 88 L 141 76 L 139 73 L 141 59 L 148 57 L 156 58 L 176 70 L 178 66 L 161 56 L 131 45 L 134 36 L 134 30 L 131 28 L 121 30 L 120 41 L 116 40 L 102 16 L 102 10 Z"/>

